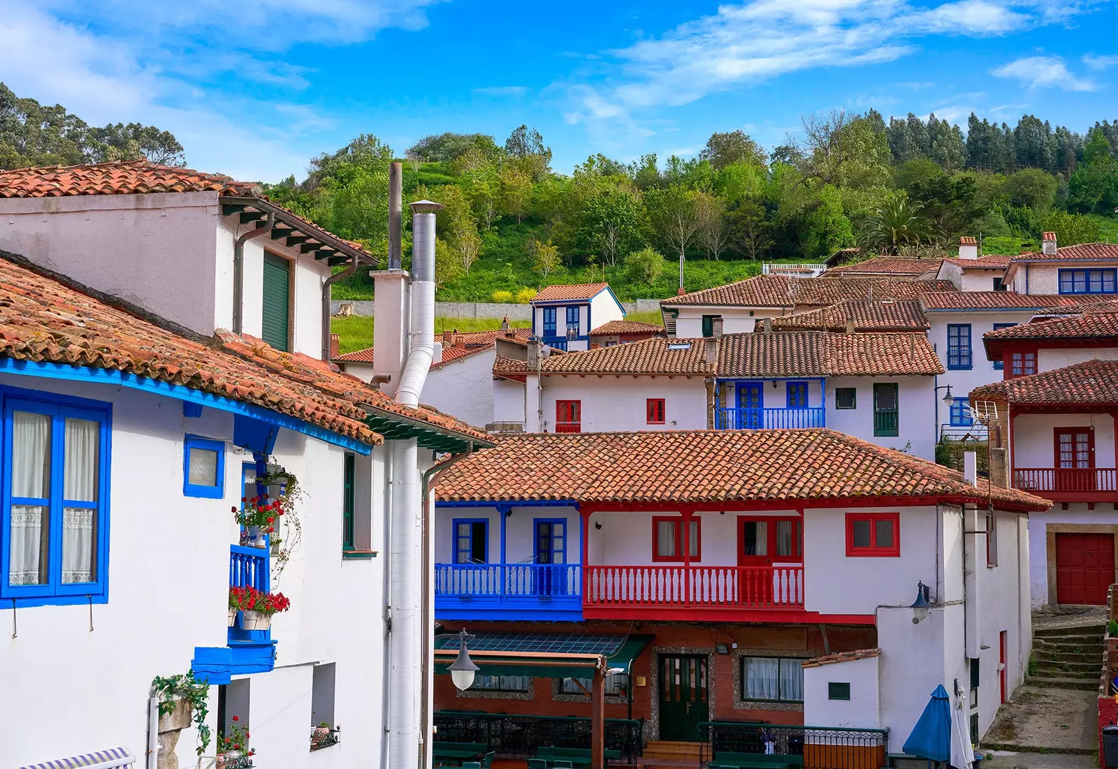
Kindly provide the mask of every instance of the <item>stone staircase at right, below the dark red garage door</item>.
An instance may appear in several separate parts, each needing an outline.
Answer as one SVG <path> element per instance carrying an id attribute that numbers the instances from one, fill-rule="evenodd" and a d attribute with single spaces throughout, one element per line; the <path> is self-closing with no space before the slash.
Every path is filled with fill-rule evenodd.
<path id="1" fill-rule="evenodd" d="M 1029 686 L 1095 691 L 1102 671 L 1106 626 L 1042 627 L 1033 634 L 1036 670 L 1025 676 Z"/>

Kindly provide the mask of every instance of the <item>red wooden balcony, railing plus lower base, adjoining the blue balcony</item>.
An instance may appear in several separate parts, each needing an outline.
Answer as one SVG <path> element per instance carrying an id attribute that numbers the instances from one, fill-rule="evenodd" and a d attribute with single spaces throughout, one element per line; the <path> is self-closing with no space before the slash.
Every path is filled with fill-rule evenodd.
<path id="1" fill-rule="evenodd" d="M 804 610 L 804 567 L 587 566 L 585 619 L 747 619 Z M 704 611 L 705 610 L 705 611 Z"/>

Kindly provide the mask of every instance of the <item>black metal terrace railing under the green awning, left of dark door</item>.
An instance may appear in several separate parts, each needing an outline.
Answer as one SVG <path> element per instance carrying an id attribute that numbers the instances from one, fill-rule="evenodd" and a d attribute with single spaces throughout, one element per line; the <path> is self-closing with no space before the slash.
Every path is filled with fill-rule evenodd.
<path id="1" fill-rule="evenodd" d="M 434 722 L 436 744 L 484 743 L 499 758 L 531 758 L 539 748 L 590 748 L 590 719 L 439 710 Z M 619 750 L 624 762 L 635 765 L 644 747 L 642 728 L 639 720 L 606 719 L 605 749 Z"/>

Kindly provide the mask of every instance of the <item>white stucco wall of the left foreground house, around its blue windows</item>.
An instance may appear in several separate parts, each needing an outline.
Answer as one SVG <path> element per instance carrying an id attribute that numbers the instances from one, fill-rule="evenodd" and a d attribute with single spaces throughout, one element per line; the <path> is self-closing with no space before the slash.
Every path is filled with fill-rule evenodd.
<path id="1" fill-rule="evenodd" d="M 110 385 L 86 385 L 0 374 L 0 383 L 89 398 L 113 405 L 108 602 L 18 608 L 17 638 L 6 638 L 0 670 L 0 741 L 6 763 L 21 766 L 123 746 L 143 766 L 146 703 L 155 675 L 182 673 L 197 646 L 226 645 L 229 544 L 237 525 L 229 509 L 241 494 L 243 463 L 250 457 L 228 440 L 231 415 L 205 409 L 182 416 L 180 401 Z M 225 496 L 182 495 L 183 436 L 226 440 Z M 383 483 L 382 456 L 359 462 L 359 473 Z M 343 450 L 281 430 L 275 459 L 295 473 L 307 499 L 300 509 L 302 545 L 273 590 L 292 607 L 273 620 L 276 670 L 247 676 L 252 744 L 273 767 L 352 766 L 379 756 L 383 623 L 383 559 L 341 559 Z M 162 485 L 152 485 L 153 480 Z M 373 516 L 382 491 L 358 478 Z M 157 490 L 159 486 L 159 490 Z M 372 548 L 382 549 L 381 518 Z M 10 608 L 0 624 L 12 627 Z M 148 628 L 148 630 L 143 630 Z M 314 663 L 337 664 L 334 720 L 363 723 L 325 751 L 307 750 Z M 58 697 L 58 691 L 66 696 Z M 210 690 L 210 725 L 217 730 L 217 687 Z M 106 708 L 105 703 L 112 703 Z M 178 757 L 195 766 L 195 731 L 183 733 Z M 215 752 L 214 746 L 207 751 Z"/>

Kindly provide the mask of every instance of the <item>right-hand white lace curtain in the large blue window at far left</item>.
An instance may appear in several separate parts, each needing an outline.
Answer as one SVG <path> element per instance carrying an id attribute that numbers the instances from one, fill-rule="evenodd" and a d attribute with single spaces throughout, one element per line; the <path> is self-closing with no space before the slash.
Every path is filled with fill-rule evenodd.
<path id="1" fill-rule="evenodd" d="M 101 425 L 86 419 L 66 420 L 65 491 L 63 499 L 63 582 L 92 582 L 96 563 L 97 511 L 69 506 L 97 501 L 97 452 Z"/>

